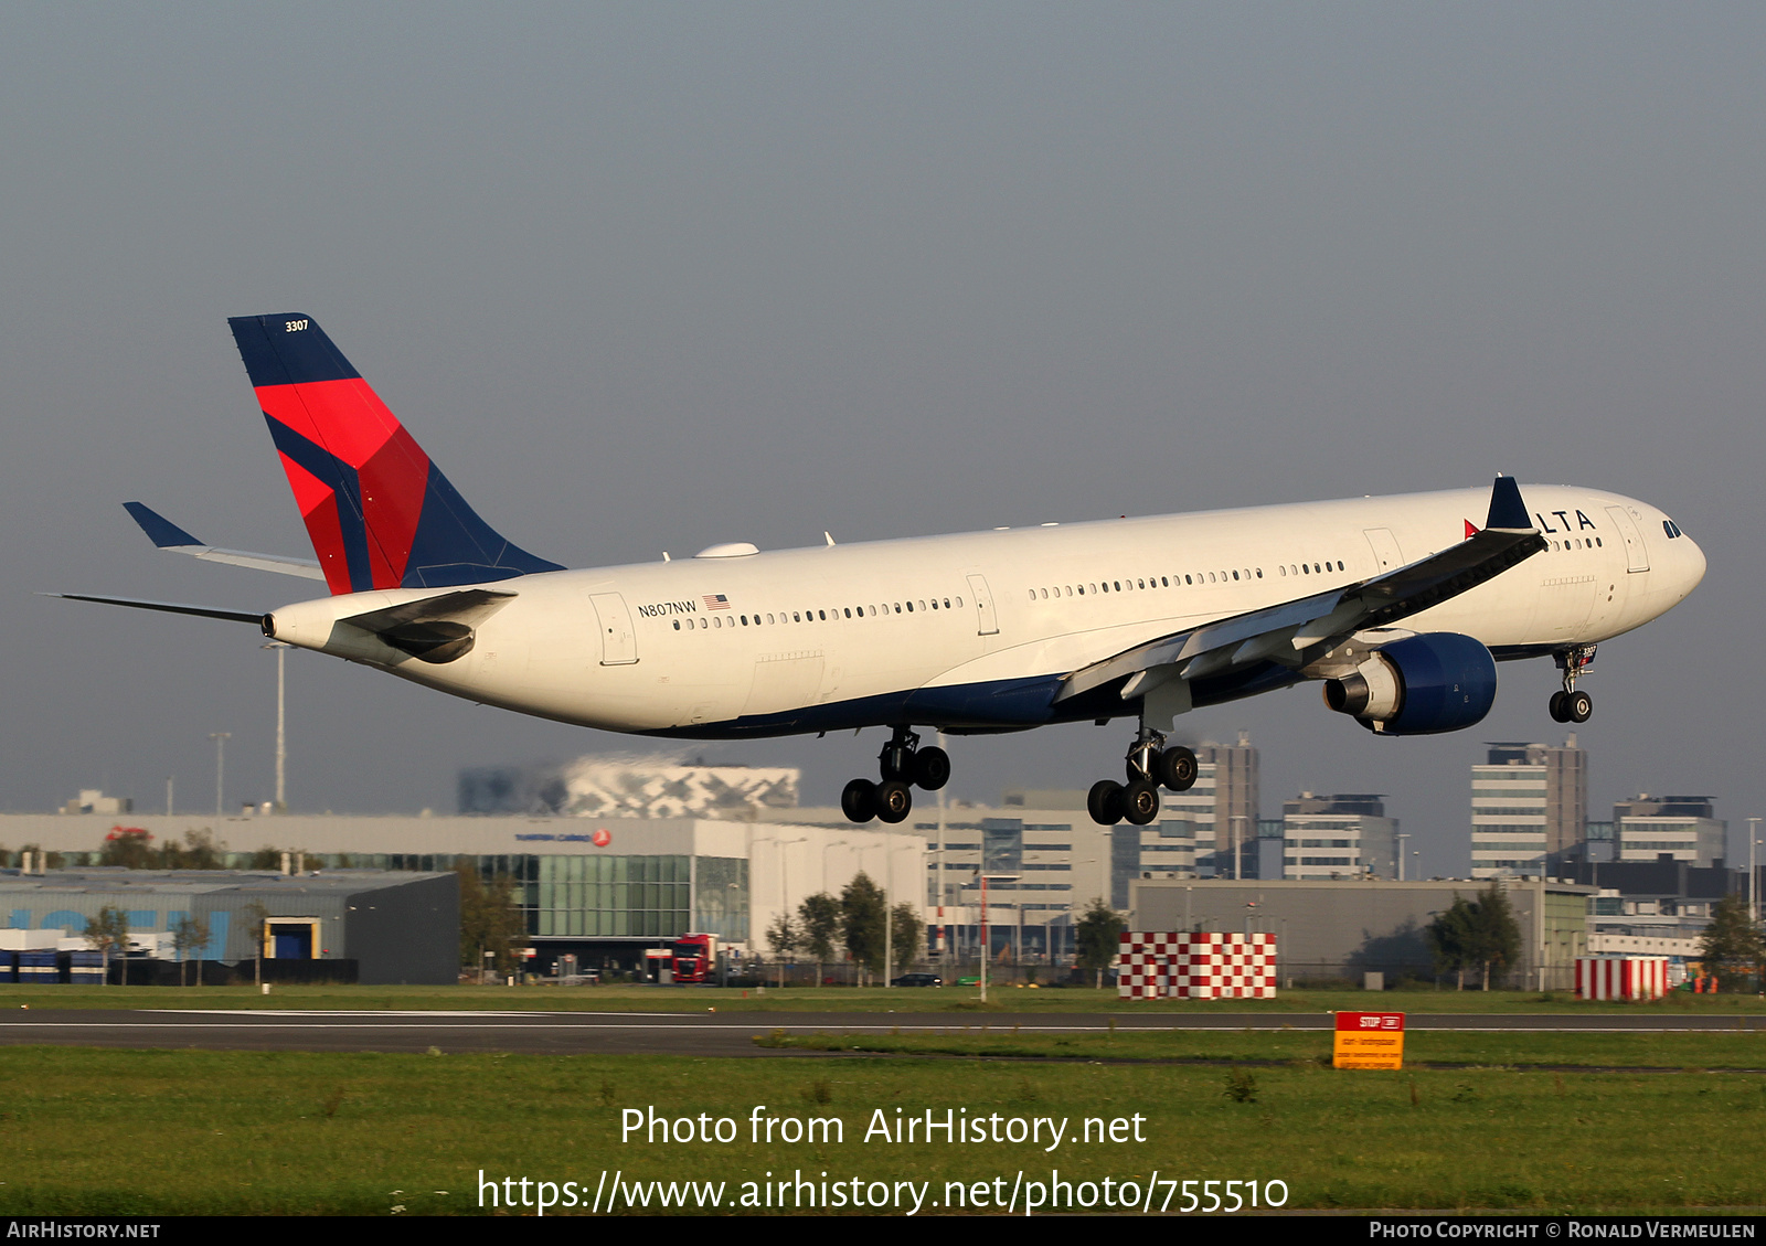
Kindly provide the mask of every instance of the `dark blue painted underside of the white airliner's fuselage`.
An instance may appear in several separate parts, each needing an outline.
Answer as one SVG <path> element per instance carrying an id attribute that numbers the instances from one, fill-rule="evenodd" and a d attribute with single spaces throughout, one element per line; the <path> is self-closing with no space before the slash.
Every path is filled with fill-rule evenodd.
<path id="1" fill-rule="evenodd" d="M 802 736 L 811 731 L 855 731 L 858 727 L 888 727 L 906 724 L 936 727 L 955 734 L 982 734 L 992 731 L 1028 731 L 1056 722 L 1086 722 L 1095 718 L 1139 717 L 1141 701 L 1121 699 L 1121 681 L 1107 683 L 1060 704 L 1063 676 L 1033 676 L 1028 679 L 991 679 L 987 683 L 955 683 L 941 688 L 908 688 L 876 697 L 830 701 L 819 706 L 798 706 L 766 715 L 742 715 L 722 722 L 699 722 L 685 727 L 646 731 L 646 736 L 675 739 L 758 739 L 766 736 Z M 1259 692 L 1298 683 L 1289 667 L 1264 662 L 1247 671 L 1219 679 L 1197 679 L 1190 685 L 1194 706 L 1211 706 L 1224 701 L 1252 697 Z"/>

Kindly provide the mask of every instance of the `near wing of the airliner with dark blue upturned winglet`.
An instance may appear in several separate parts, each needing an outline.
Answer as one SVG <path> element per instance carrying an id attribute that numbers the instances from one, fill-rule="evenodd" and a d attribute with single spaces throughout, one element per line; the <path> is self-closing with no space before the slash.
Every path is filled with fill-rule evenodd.
<path id="1" fill-rule="evenodd" d="M 1545 549 L 1513 477 L 1498 477 L 1483 531 L 1360 584 L 1173 632 L 1067 676 L 1056 702 L 1127 678 L 1130 699 L 1169 678 L 1196 679 L 1256 662 L 1307 665 L 1349 635 L 1390 627 L 1483 584 Z"/>

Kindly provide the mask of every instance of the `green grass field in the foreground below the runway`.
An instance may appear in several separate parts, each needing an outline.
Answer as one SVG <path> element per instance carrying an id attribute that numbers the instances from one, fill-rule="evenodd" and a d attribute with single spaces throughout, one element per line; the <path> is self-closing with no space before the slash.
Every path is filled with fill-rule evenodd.
<path id="1" fill-rule="evenodd" d="M 1316 1059 L 1321 1036 L 1282 1032 L 1180 1038 L 1181 1050 L 1210 1059 L 1287 1061 L 1236 1068 L 1086 1062 L 1090 1052 L 1019 1062 L 19 1047 L 4 1055 L 0 1214 L 482 1214 L 491 1209 L 479 1205 L 480 1170 L 491 1181 L 574 1181 L 585 1202 L 602 1170 L 625 1182 L 722 1182 L 726 1205 L 766 1174 L 819 1182 L 826 1172 L 828 1181 L 927 1182 L 920 1214 L 932 1214 L 931 1202 L 947 1211 L 945 1182 L 962 1182 L 968 1198 L 975 1182 L 998 1177 L 991 1200 L 1017 1174 L 1053 1184 L 1051 1168 L 1061 1181 L 1091 1181 L 1093 1197 L 1106 1177 L 1139 1188 L 1155 1172 L 1158 1181 L 1280 1181 L 1289 1209 L 1766 1204 L 1757 1142 L 1766 1077 L 1517 1068 L 1535 1057 L 1623 1064 L 1616 1040 L 1634 1038 L 1642 1036 L 1413 1034 L 1415 1059 L 1482 1066 L 1402 1073 L 1333 1071 Z M 1757 1040 L 1648 1036 L 1653 1048 L 1634 1054 L 1711 1066 L 1748 1041 Z M 756 1105 L 781 1119 L 837 1117 L 844 1140 L 752 1142 Z M 622 1142 L 622 1112 L 652 1107 L 671 1119 L 706 1114 L 713 1130 L 728 1117 L 736 1140 Z M 1100 1133 L 1120 1119 L 1123 1135 L 1141 1115 L 1144 1140 L 1068 1135 L 1054 1152 L 1044 1151 L 1047 1138 L 864 1140 L 874 1112 L 894 1122 L 927 1108 L 1067 1119 L 1072 1133 L 1084 1119 L 1097 1119 Z M 1181 1188 L 1155 1190 L 1157 1209 Z M 1178 1193 L 1171 1207 L 1181 1205 Z"/>

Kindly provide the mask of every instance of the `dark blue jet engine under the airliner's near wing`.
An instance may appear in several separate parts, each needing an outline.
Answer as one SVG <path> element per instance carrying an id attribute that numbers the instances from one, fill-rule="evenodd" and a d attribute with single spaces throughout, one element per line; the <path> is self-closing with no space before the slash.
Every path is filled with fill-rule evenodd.
<path id="1" fill-rule="evenodd" d="M 1409 635 L 1353 674 L 1324 681 L 1324 704 L 1383 736 L 1429 736 L 1480 722 L 1496 701 L 1496 658 L 1457 632 Z"/>

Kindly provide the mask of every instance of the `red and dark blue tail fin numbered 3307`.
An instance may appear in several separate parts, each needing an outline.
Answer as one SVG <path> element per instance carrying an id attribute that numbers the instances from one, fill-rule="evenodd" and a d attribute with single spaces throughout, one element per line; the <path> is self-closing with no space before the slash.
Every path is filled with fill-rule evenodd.
<path id="1" fill-rule="evenodd" d="M 334 595 L 562 570 L 479 519 L 311 316 L 228 327 Z"/>

